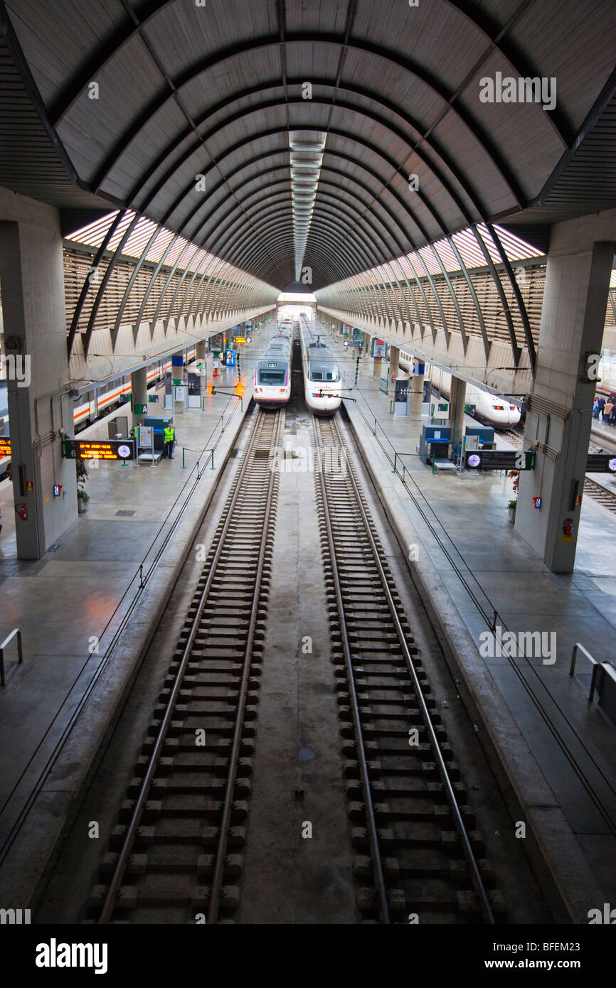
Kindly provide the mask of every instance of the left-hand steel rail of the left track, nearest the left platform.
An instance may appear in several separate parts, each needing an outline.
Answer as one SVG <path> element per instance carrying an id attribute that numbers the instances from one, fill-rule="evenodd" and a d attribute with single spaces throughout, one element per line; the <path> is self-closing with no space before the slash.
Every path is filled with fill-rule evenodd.
<path id="1" fill-rule="evenodd" d="M 98 923 L 99 924 L 105 924 L 105 923 L 110 922 L 110 920 L 111 920 L 111 918 L 113 916 L 114 910 L 116 908 L 116 905 L 117 905 L 118 895 L 119 895 L 120 890 L 121 890 L 122 880 L 124 878 L 124 874 L 125 874 L 125 871 L 126 871 L 126 867 L 127 867 L 128 861 L 129 861 L 129 857 L 130 857 L 131 852 L 132 852 L 132 845 L 134 843 L 134 838 L 136 836 L 136 831 L 137 831 L 137 828 L 139 826 L 141 814 L 143 812 L 143 808 L 145 806 L 145 802 L 146 802 L 147 796 L 149 794 L 150 785 L 151 785 L 151 783 L 153 781 L 153 777 L 154 777 L 155 771 L 156 771 L 156 769 L 158 767 L 158 760 L 160 758 L 160 753 L 162 751 L 162 747 L 164 745 L 164 742 L 165 742 L 165 739 L 166 739 L 166 736 L 167 736 L 167 730 L 169 728 L 169 724 L 170 724 L 171 718 L 173 716 L 173 712 L 174 712 L 174 708 L 175 708 L 175 703 L 176 703 L 176 700 L 178 698 L 178 695 L 179 695 L 180 690 L 181 690 L 181 687 L 182 687 L 182 681 L 183 681 L 183 678 L 184 678 L 184 674 L 186 672 L 186 667 L 187 667 L 188 662 L 189 662 L 189 659 L 190 659 L 190 655 L 191 655 L 191 652 L 192 652 L 193 644 L 195 642 L 195 638 L 197 637 L 197 632 L 199 630 L 199 625 L 200 625 L 200 622 L 201 622 L 201 618 L 203 616 L 203 612 L 204 612 L 205 607 L 206 607 L 206 603 L 207 603 L 207 600 L 208 600 L 208 595 L 210 593 L 210 590 L 212 588 L 212 584 L 214 582 L 214 578 L 215 578 L 215 575 L 216 575 L 216 570 L 217 570 L 218 562 L 220 560 L 220 554 L 221 554 L 221 551 L 222 551 L 222 546 L 223 546 L 223 543 L 224 543 L 224 537 L 225 537 L 225 535 L 226 535 L 226 533 L 228 531 L 228 527 L 230 525 L 231 518 L 233 516 L 233 509 L 234 509 L 235 504 L 237 502 L 237 498 L 239 496 L 239 492 L 240 492 L 240 489 L 241 489 L 242 481 L 243 481 L 244 475 L 245 475 L 246 470 L 247 470 L 247 467 L 248 467 L 248 461 L 249 461 L 249 458 L 250 458 L 250 453 L 252 452 L 252 449 L 254 447 L 254 444 L 255 444 L 257 435 L 260 432 L 260 427 L 261 427 L 261 425 L 263 423 L 263 415 L 264 415 L 263 412 L 259 412 L 259 415 L 257 416 L 257 418 L 255 420 L 255 423 L 254 423 L 254 426 L 253 426 L 253 431 L 252 431 L 252 434 L 251 434 L 250 439 L 249 439 L 249 442 L 248 442 L 248 447 L 247 447 L 247 450 L 246 450 L 246 455 L 242 459 L 242 463 L 241 463 L 239 472 L 237 474 L 237 478 L 236 478 L 235 483 L 233 485 L 233 491 L 232 491 L 231 500 L 230 500 L 230 503 L 229 503 L 229 506 L 228 506 L 228 509 L 227 509 L 227 512 L 226 512 L 226 517 L 224 519 L 222 530 L 220 532 L 217 549 L 216 549 L 214 558 L 213 558 L 212 563 L 211 563 L 211 566 L 210 566 L 210 572 L 208 574 L 208 579 L 206 580 L 206 584 L 204 586 L 204 589 L 203 589 L 203 592 L 202 592 L 202 595 L 201 595 L 201 598 L 200 598 L 200 601 L 199 601 L 199 605 L 197 607 L 197 611 L 196 611 L 195 617 L 193 618 L 193 624 L 192 624 L 192 627 L 191 627 L 191 630 L 190 630 L 190 634 L 188 636 L 188 640 L 186 642 L 186 646 L 185 646 L 184 651 L 182 653 L 182 658 L 181 658 L 180 663 L 179 663 L 179 666 L 178 666 L 178 670 L 177 670 L 177 675 L 176 675 L 176 678 L 175 678 L 175 682 L 173 684 L 173 688 L 172 688 L 171 693 L 169 695 L 169 699 L 167 701 L 167 706 L 166 706 L 166 709 L 165 709 L 165 712 L 164 712 L 164 716 L 163 716 L 163 718 L 162 718 L 162 720 L 160 722 L 160 726 L 158 728 L 158 733 L 156 735 L 156 741 L 154 743 L 154 746 L 153 746 L 153 749 L 152 749 L 152 753 L 150 755 L 150 759 L 149 759 L 149 762 L 148 762 L 148 765 L 147 765 L 147 770 L 146 770 L 146 772 L 145 772 L 145 774 L 143 776 L 143 779 L 142 779 L 142 782 L 141 782 L 141 785 L 140 785 L 140 788 L 139 788 L 139 794 L 138 794 L 138 796 L 136 798 L 136 801 L 135 801 L 135 804 L 134 804 L 134 808 L 132 810 L 131 821 L 127 825 L 127 833 L 126 833 L 126 836 L 125 836 L 125 840 L 124 840 L 122 849 L 121 849 L 121 851 L 119 852 L 119 855 L 118 855 L 118 861 L 116 862 L 116 867 L 114 869 L 114 874 L 112 876 L 110 885 L 109 885 L 109 887 L 107 889 L 107 893 L 106 893 L 106 896 L 105 896 L 105 901 L 104 901 L 103 906 L 102 906 L 102 909 L 101 909 L 101 915 L 100 915 L 99 920 L 98 920 Z"/>

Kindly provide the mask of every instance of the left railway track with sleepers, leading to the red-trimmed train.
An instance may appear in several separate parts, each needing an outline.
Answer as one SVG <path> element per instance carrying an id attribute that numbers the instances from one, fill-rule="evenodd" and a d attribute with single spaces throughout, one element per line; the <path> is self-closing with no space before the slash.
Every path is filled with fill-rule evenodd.
<path id="1" fill-rule="evenodd" d="M 283 415 L 255 415 L 89 901 L 99 923 L 216 923 L 239 904 Z"/>

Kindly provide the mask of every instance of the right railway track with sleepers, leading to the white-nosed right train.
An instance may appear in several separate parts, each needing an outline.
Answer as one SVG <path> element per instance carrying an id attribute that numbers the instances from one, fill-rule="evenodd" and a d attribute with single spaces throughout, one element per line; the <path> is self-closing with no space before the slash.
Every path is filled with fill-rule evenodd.
<path id="1" fill-rule="evenodd" d="M 484 841 L 335 419 L 315 471 L 357 906 L 381 923 L 493 923 Z"/>

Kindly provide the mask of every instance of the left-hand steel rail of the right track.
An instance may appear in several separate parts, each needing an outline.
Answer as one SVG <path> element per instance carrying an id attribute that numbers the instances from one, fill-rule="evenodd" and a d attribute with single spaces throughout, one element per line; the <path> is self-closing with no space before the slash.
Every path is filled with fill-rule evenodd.
<path id="1" fill-rule="evenodd" d="M 314 438 L 316 442 L 317 449 L 322 449 L 322 436 L 320 432 L 320 422 L 318 422 L 318 427 L 316 427 L 316 418 L 313 420 L 314 427 Z M 321 457 L 322 463 L 322 457 Z M 340 625 L 340 632 L 342 637 L 342 647 L 344 651 L 344 662 L 346 665 L 347 680 L 349 686 L 349 700 L 351 702 L 351 707 L 353 710 L 353 721 L 355 725 L 355 737 L 357 744 L 357 759 L 359 762 L 359 771 L 362 781 L 362 788 L 364 790 L 364 804 L 366 808 L 366 820 L 367 820 L 367 831 L 368 831 L 368 841 L 370 844 L 372 866 L 375 876 L 375 887 L 377 891 L 377 897 L 379 900 L 379 916 L 382 923 L 390 923 L 390 906 L 388 902 L 388 894 L 385 886 L 385 876 L 383 874 L 383 864 L 381 861 L 381 854 L 379 852 L 379 836 L 377 820 L 375 816 L 374 804 L 372 799 L 372 790 L 370 788 L 370 779 L 368 776 L 368 764 L 366 761 L 366 753 L 364 748 L 364 735 L 361 726 L 361 720 L 359 715 L 359 702 L 357 700 L 357 691 L 355 689 L 355 680 L 353 677 L 353 663 L 351 660 L 351 648 L 349 645 L 349 636 L 346 627 L 346 618 L 344 616 L 344 603 L 342 600 L 342 589 L 340 587 L 340 579 L 338 576 L 338 571 L 336 568 L 336 550 L 333 537 L 333 531 L 331 526 L 331 516 L 329 514 L 329 505 L 327 501 L 327 491 L 325 488 L 325 479 L 322 468 L 317 470 L 321 497 L 322 497 L 322 510 L 323 517 L 325 520 L 325 526 L 327 529 L 327 541 L 329 544 L 329 554 L 331 557 L 331 571 L 333 575 L 334 589 L 336 594 L 336 603 L 338 607 L 338 620 Z"/>

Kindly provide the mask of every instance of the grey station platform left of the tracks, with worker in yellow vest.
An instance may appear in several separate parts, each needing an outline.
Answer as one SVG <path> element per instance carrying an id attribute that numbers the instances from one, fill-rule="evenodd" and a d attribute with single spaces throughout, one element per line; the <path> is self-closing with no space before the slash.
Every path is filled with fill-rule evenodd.
<path id="1" fill-rule="evenodd" d="M 17 558 L 12 484 L 0 485 L 0 640 L 21 627 L 24 655 L 18 665 L 15 643 L 9 645 L 6 686 L 0 690 L 0 891 L 5 883 L 20 887 L 29 901 L 109 711 L 164 613 L 168 588 L 233 450 L 252 393 L 254 363 L 270 335 L 264 328 L 241 347 L 243 401 L 232 393 L 206 392 L 201 410 L 174 412 L 173 459 L 153 467 L 90 466 L 87 512 L 42 559 Z M 212 370 L 210 356 L 209 382 Z M 232 392 L 237 371 L 220 368 L 214 379 L 217 388 Z M 154 407 L 162 410 L 162 404 L 161 397 Z M 79 438 L 107 440 L 108 421 L 126 414 L 121 407 Z M 86 702 L 91 741 L 85 749 L 83 738 L 75 741 L 73 764 L 67 768 L 63 755 L 58 778 L 55 758 L 62 744 L 70 752 L 71 732 Z M 13 857 L 18 828 L 19 854 Z"/>

